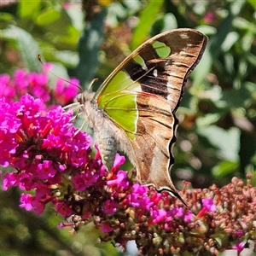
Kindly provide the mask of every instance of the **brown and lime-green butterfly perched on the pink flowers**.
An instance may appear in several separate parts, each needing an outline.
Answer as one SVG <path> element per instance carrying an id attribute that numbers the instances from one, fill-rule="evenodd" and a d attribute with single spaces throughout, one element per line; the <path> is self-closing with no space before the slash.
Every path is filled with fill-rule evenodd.
<path id="1" fill-rule="evenodd" d="M 162 32 L 126 57 L 96 93 L 84 92 L 84 117 L 108 171 L 120 146 L 139 183 L 183 201 L 171 178 L 175 112 L 206 46 L 207 36 L 193 29 Z"/>

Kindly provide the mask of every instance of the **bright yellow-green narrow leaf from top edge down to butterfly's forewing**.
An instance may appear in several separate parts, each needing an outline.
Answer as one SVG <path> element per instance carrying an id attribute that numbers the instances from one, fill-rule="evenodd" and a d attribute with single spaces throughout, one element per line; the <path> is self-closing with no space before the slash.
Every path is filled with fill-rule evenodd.
<path id="1" fill-rule="evenodd" d="M 148 1 L 148 6 L 143 9 L 140 15 L 140 22 L 133 32 L 133 38 L 131 41 L 131 49 L 136 49 L 140 44 L 143 44 L 145 38 L 148 36 L 148 32 L 152 24 L 154 23 L 155 16 L 160 13 L 163 0 L 160 1 Z"/>

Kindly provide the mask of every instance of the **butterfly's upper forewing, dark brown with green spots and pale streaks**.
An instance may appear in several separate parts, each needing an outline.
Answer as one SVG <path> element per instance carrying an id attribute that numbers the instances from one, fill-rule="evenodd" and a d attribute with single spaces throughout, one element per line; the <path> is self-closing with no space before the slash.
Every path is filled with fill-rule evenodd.
<path id="1" fill-rule="evenodd" d="M 191 29 L 163 32 L 129 55 L 96 92 L 144 91 L 163 96 L 172 111 L 180 101 L 183 84 L 201 60 L 207 37 Z M 116 79 L 119 77 L 119 79 Z"/>

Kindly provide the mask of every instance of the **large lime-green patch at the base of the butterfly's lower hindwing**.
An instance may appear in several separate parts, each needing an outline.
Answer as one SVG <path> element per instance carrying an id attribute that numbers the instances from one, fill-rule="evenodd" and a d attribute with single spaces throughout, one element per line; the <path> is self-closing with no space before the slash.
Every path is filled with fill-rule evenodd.
<path id="1" fill-rule="evenodd" d="M 106 91 L 106 90 L 105 90 Z M 104 92 L 105 92 L 104 91 Z M 114 91 L 98 98 L 99 106 L 104 109 L 113 122 L 122 127 L 127 136 L 134 138 L 137 131 L 137 93 Z"/>

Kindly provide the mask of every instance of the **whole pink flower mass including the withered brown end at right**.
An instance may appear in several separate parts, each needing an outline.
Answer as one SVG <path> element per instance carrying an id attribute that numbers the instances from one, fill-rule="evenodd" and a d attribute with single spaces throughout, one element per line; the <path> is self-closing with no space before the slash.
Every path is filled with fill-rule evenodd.
<path id="1" fill-rule="evenodd" d="M 210 189 L 186 189 L 183 199 L 190 211 L 167 192 L 160 194 L 135 183 L 134 172 L 130 175 L 119 170 L 125 163 L 124 156 L 117 154 L 112 170 L 107 172 L 99 151 L 92 153 L 90 135 L 73 126 L 71 110 L 47 108 L 41 98 L 29 94 L 14 102 L 14 91 L 8 84 L 14 83 L 15 88 L 17 83 L 22 91 L 30 88 L 24 85 L 29 77 L 44 78 L 44 74 L 23 75 L 23 82 L 14 82 L 17 73 L 14 79 L 2 75 L 2 84 L 7 84 L 9 90 L 0 98 L 0 165 L 12 168 L 3 170 L 3 189 L 18 186 L 23 190 L 20 207 L 41 213 L 51 203 L 55 212 L 66 218 L 60 227 L 79 230 L 81 224 L 93 221 L 105 234 L 102 241 L 112 240 L 125 247 L 127 241 L 135 240 L 139 251 L 148 255 L 195 249 L 216 254 L 217 241 L 223 234 L 230 235 L 228 241 L 223 241 L 223 248 L 235 241 L 241 251 L 241 241 L 245 237 L 253 239 L 256 189 L 249 180 L 247 186 L 233 178 L 223 189 L 214 185 Z M 31 84 L 37 84 L 37 79 Z M 32 88 L 47 101 L 49 90 L 39 93 L 37 86 Z M 60 95 L 65 94 L 61 93 L 64 87 L 58 88 Z M 247 226 L 251 227 L 249 232 L 244 228 Z M 216 241 L 213 235 L 218 237 Z"/>

